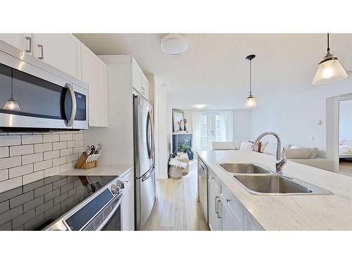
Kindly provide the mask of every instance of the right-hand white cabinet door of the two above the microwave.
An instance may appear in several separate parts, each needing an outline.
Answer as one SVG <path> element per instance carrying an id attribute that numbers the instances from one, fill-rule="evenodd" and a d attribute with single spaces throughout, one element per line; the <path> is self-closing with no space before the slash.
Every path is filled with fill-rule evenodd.
<path id="1" fill-rule="evenodd" d="M 80 44 L 73 34 L 33 34 L 33 56 L 81 79 Z"/>

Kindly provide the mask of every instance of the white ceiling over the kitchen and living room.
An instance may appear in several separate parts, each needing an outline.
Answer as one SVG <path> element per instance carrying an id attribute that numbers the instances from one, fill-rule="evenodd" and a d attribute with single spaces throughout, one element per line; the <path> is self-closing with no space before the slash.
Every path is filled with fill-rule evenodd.
<path id="1" fill-rule="evenodd" d="M 165 34 L 75 34 L 95 54 L 132 54 L 144 73 L 165 84 L 174 108 L 243 108 L 252 61 L 253 95 L 260 101 L 307 89 L 326 54 L 326 34 L 184 34 L 188 49 L 171 56 L 161 51 Z M 352 34 L 330 34 L 330 49 L 352 70 Z M 342 81 L 346 82 L 346 80 Z M 330 84 L 330 89 L 333 85 Z"/>

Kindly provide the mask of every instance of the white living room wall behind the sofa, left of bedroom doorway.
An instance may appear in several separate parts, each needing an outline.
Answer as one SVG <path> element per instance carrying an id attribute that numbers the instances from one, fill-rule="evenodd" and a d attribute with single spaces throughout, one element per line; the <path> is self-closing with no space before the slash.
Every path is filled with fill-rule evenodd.
<path id="1" fill-rule="evenodd" d="M 251 113 L 251 138 L 265 131 L 277 132 L 282 142 L 299 146 L 318 147 L 325 156 L 327 98 L 351 93 L 351 78 L 333 84 L 310 86 L 294 96 L 277 96 L 258 100 Z M 322 125 L 317 125 L 322 120 Z M 308 137 L 313 136 L 310 141 Z"/>

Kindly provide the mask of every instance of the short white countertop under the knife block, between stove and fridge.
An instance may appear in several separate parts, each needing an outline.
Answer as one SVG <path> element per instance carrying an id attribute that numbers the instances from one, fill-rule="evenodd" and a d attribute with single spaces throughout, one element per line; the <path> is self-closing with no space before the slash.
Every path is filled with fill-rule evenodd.
<path id="1" fill-rule="evenodd" d="M 133 170 L 133 165 L 106 165 L 98 166 L 89 170 L 72 169 L 61 172 L 59 175 L 64 176 L 118 176 L 125 175 Z"/>

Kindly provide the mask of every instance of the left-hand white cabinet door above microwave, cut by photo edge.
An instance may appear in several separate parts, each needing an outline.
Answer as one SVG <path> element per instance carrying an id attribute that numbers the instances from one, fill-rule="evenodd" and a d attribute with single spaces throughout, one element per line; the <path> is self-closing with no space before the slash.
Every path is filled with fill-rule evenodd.
<path id="1" fill-rule="evenodd" d="M 32 55 L 33 42 L 32 34 L 19 34 L 19 33 L 1 33 L 0 39 L 7 44 L 14 46 L 21 51 L 27 52 L 27 54 Z"/>

